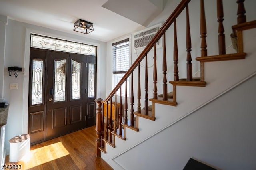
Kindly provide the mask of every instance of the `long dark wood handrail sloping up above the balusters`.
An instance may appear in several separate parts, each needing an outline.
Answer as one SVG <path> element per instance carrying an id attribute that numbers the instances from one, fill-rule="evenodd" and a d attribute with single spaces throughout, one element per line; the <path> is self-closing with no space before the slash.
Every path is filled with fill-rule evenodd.
<path id="1" fill-rule="evenodd" d="M 154 44 L 158 42 L 158 40 L 162 37 L 164 32 L 172 25 L 174 20 L 179 16 L 179 14 L 186 8 L 186 5 L 190 2 L 190 0 L 182 0 L 180 4 L 175 8 L 175 10 L 172 12 L 172 14 L 169 16 L 169 18 L 164 22 L 162 27 L 159 29 L 159 31 L 156 33 L 154 38 L 148 43 L 148 45 L 145 47 L 145 49 L 142 51 L 142 53 L 139 55 L 139 57 L 134 61 L 134 63 L 131 65 L 131 67 L 128 69 L 128 71 L 124 74 L 122 79 L 117 83 L 116 87 L 110 92 L 108 97 L 102 101 L 102 103 L 109 101 L 110 98 L 112 98 L 115 95 L 115 92 L 118 91 L 120 86 L 126 81 L 126 79 L 130 76 L 132 71 L 136 69 L 138 64 L 144 59 L 146 54 L 154 47 Z"/>

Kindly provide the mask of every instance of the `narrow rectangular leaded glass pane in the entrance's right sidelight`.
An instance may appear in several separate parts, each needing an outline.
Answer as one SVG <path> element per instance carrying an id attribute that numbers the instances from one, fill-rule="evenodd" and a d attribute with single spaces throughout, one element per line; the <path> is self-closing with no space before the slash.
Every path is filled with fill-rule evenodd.
<path id="1" fill-rule="evenodd" d="M 95 64 L 88 63 L 88 97 L 94 97 Z"/>

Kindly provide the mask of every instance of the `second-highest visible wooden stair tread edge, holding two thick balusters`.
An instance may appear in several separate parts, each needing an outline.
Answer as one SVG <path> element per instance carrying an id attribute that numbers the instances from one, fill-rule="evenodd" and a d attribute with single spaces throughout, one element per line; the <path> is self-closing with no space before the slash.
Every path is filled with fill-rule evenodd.
<path id="1" fill-rule="evenodd" d="M 233 54 L 197 57 L 196 60 L 200 62 L 228 61 L 228 60 L 235 60 L 235 59 L 245 59 L 245 56 L 246 56 L 246 53 L 233 53 Z"/>

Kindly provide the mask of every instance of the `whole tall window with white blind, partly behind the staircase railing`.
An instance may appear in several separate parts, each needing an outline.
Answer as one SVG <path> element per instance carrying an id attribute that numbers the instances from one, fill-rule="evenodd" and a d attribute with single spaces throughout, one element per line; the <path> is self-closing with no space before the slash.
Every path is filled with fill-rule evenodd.
<path id="1" fill-rule="evenodd" d="M 122 79 L 130 67 L 130 44 L 129 38 L 112 44 L 113 47 L 113 88 Z M 127 97 L 129 97 L 129 78 L 127 79 Z M 117 91 L 120 95 L 120 90 Z M 125 96 L 125 83 L 122 85 L 122 94 Z"/>

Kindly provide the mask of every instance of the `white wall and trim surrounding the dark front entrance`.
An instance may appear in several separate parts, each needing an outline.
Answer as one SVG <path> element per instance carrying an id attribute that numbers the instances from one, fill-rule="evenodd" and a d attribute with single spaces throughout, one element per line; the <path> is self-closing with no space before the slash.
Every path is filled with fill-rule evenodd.
<path id="1" fill-rule="evenodd" d="M 64 40 L 87 43 L 98 47 L 97 54 L 97 97 L 102 97 L 106 93 L 106 43 L 86 38 L 58 32 L 48 28 L 30 25 L 14 20 L 8 20 L 6 28 L 6 47 L 4 62 L 4 98 L 10 104 L 8 122 L 6 125 L 6 143 L 10 138 L 19 134 L 26 134 L 28 130 L 28 75 L 29 75 L 29 48 L 30 33 L 43 34 Z M 18 77 L 9 76 L 7 67 L 19 66 L 24 68 L 24 72 L 19 72 Z M 17 90 L 9 90 L 9 83 L 18 83 Z M 7 144 L 8 145 L 8 144 Z M 8 152 L 8 147 L 7 152 Z"/>

